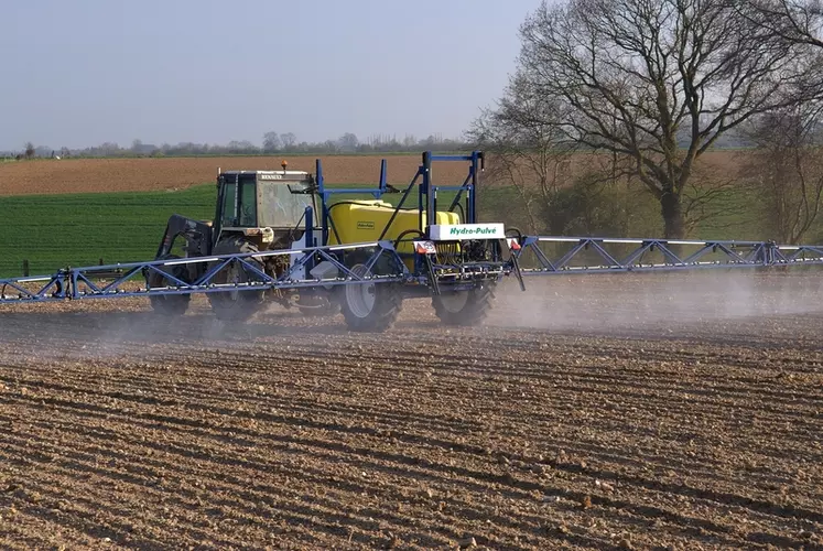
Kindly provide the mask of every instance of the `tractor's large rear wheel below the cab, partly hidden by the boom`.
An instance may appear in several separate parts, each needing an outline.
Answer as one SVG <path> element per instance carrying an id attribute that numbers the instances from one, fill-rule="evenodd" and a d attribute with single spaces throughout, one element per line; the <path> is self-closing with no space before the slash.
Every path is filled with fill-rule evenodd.
<path id="1" fill-rule="evenodd" d="M 257 251 L 255 244 L 241 237 L 229 237 L 217 241 L 212 252 L 214 255 L 241 255 Z M 255 262 L 260 270 L 263 270 L 263 264 L 258 260 L 247 259 L 247 261 Z M 245 270 L 239 263 L 234 263 L 215 274 L 214 281 L 215 283 L 243 283 L 255 279 L 253 272 Z M 237 290 L 208 293 L 208 302 L 218 320 L 242 323 L 260 310 L 263 303 L 263 291 Z"/>

